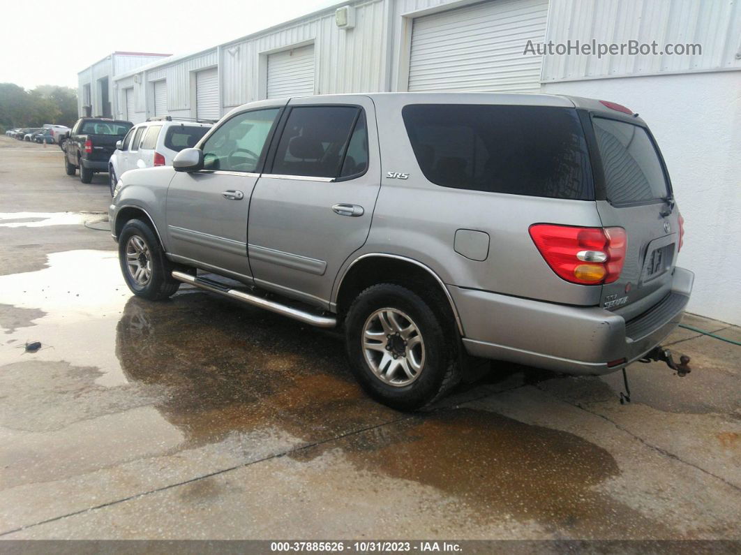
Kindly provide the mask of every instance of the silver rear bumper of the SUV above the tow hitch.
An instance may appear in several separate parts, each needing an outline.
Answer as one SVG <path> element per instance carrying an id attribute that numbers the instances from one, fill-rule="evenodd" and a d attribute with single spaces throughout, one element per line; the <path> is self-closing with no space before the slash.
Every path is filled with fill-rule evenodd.
<path id="1" fill-rule="evenodd" d="M 674 268 L 671 291 L 629 322 L 599 307 L 574 307 L 449 287 L 473 356 L 571 374 L 614 372 L 659 345 L 679 325 L 694 274 Z M 608 365 L 624 359 L 624 362 Z"/>

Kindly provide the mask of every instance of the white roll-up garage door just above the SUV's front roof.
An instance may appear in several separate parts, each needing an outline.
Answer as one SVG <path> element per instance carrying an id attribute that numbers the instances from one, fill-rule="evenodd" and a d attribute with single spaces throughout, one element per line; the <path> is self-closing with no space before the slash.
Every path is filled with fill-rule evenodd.
<path id="1" fill-rule="evenodd" d="M 268 56 L 268 98 L 314 93 L 314 45 Z"/>

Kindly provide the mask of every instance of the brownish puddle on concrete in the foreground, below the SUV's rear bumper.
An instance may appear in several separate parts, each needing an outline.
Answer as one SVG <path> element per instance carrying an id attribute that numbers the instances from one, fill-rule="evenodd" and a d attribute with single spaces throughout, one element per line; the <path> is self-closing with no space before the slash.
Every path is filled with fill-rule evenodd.
<path id="1" fill-rule="evenodd" d="M 309 462 L 337 447 L 291 457 Z M 439 411 L 342 439 L 339 447 L 358 471 L 436 488 L 457 499 L 451 514 L 474 514 L 482 525 L 514 518 L 567 537 L 654 536 L 662 528 L 599 491 L 619 474 L 608 451 L 497 413 Z"/>

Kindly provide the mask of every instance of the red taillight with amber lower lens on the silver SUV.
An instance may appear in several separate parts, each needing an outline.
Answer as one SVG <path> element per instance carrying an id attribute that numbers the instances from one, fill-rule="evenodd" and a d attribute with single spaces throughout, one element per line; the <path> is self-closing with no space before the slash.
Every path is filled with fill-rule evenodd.
<path id="1" fill-rule="evenodd" d="M 551 270 L 567 282 L 612 283 L 625 262 L 628 242 L 622 227 L 534 224 L 530 236 Z"/>

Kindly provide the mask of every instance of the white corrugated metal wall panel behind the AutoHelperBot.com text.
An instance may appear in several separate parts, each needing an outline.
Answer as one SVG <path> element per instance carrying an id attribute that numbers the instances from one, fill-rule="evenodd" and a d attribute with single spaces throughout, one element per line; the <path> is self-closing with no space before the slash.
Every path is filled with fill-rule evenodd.
<path id="1" fill-rule="evenodd" d="M 545 56 L 542 80 L 589 79 L 741 68 L 741 2 L 737 0 L 554 0 L 548 41 L 606 43 L 631 39 L 659 50 L 698 43 L 702 56 Z"/>

